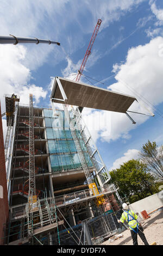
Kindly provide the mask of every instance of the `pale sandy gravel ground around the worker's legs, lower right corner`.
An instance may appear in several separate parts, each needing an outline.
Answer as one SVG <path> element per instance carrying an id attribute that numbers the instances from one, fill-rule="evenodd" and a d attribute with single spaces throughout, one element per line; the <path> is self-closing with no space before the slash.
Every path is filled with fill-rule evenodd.
<path id="1" fill-rule="evenodd" d="M 155 211 L 150 216 L 151 218 L 141 222 L 146 239 L 149 245 L 151 245 L 153 242 L 156 242 L 157 245 L 163 245 L 163 210 Z M 133 245 L 130 230 L 125 230 L 122 234 L 123 237 L 113 242 L 107 240 L 103 242 L 102 245 Z M 137 241 L 139 245 L 143 245 L 139 235 Z"/>

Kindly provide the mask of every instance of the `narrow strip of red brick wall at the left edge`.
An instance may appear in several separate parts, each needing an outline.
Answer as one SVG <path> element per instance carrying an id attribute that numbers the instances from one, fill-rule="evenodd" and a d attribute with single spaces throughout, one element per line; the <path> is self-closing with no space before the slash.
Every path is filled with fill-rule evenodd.
<path id="1" fill-rule="evenodd" d="M 5 172 L 4 142 L 0 102 L 0 245 L 3 245 L 4 243 L 2 237 L 4 236 L 4 223 L 6 223 L 8 220 L 8 214 L 9 205 L 7 192 L 7 178 Z"/>

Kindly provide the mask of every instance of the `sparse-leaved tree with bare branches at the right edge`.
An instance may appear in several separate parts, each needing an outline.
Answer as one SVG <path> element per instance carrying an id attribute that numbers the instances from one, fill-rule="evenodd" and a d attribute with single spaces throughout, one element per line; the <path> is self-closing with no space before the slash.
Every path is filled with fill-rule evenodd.
<path id="1" fill-rule="evenodd" d="M 148 142 L 142 146 L 140 159 L 147 164 L 149 170 L 160 181 L 163 181 L 163 146 L 158 147 L 155 142 Z"/>

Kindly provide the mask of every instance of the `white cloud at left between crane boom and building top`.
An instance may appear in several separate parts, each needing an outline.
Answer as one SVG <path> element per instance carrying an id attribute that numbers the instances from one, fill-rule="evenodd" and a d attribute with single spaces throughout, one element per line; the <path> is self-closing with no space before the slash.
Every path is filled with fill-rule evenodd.
<path id="1" fill-rule="evenodd" d="M 0 45 L 0 99 L 2 112 L 5 111 L 4 94 L 11 95 L 12 93 L 20 96 L 20 103 L 29 105 L 29 93 L 34 96 L 34 103 L 40 102 L 40 99 L 45 99 L 47 92 L 42 87 L 35 84 L 29 84 L 31 73 L 30 70 L 22 64 L 23 59 L 26 58 L 26 48 L 18 45 Z M 4 138 L 7 127 L 5 119 L 3 121 Z"/>

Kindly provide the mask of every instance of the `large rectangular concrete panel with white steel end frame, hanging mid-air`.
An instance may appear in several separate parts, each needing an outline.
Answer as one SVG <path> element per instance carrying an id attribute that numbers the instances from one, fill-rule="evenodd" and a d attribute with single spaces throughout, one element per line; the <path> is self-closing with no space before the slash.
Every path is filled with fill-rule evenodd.
<path id="1" fill-rule="evenodd" d="M 74 82 L 62 77 L 55 77 L 51 99 L 53 102 L 67 105 L 89 107 L 126 113 L 135 97 L 111 92 L 85 83 Z"/>

